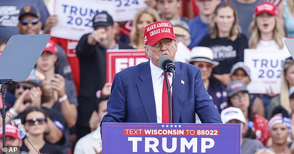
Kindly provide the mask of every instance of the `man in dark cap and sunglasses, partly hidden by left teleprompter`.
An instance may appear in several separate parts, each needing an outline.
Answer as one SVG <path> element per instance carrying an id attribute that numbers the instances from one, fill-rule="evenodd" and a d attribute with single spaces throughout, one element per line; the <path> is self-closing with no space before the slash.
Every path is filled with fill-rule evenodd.
<path id="1" fill-rule="evenodd" d="M 42 28 L 42 21 L 39 11 L 32 6 L 25 6 L 19 12 L 17 28 L 20 34 L 39 34 Z M 72 80 L 71 68 L 68 63 L 65 51 L 56 46 L 58 64 L 55 65 L 55 72 Z"/>

